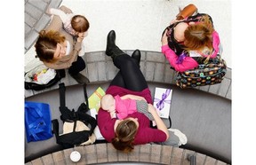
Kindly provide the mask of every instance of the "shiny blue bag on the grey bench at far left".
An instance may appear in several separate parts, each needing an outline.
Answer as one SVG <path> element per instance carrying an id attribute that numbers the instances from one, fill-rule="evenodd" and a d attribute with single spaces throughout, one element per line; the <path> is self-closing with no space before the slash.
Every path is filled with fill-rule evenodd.
<path id="1" fill-rule="evenodd" d="M 25 129 L 28 142 L 52 138 L 50 106 L 45 103 L 25 101 Z"/>

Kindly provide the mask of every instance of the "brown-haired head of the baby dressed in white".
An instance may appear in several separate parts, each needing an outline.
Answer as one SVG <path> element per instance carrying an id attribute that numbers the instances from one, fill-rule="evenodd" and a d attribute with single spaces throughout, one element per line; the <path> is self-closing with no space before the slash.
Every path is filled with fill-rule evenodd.
<path id="1" fill-rule="evenodd" d="M 71 26 L 76 32 L 84 33 L 90 27 L 90 23 L 83 15 L 75 15 L 71 20 Z"/>

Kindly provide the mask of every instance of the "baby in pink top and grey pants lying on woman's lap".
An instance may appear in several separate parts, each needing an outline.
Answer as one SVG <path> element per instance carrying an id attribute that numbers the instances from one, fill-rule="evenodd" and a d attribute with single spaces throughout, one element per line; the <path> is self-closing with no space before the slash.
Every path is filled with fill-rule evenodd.
<path id="1" fill-rule="evenodd" d="M 118 118 L 122 120 L 128 114 L 139 112 L 145 114 L 150 121 L 154 121 L 152 114 L 148 112 L 148 106 L 152 105 L 144 100 L 122 99 L 118 95 L 113 97 L 112 95 L 106 94 L 101 98 L 100 106 L 103 110 L 108 111 L 112 119 Z"/>

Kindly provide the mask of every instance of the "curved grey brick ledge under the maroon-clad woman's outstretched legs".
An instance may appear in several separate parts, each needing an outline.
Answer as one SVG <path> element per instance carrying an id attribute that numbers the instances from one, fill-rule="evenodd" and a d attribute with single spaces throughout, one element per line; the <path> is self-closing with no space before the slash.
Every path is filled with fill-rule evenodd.
<path id="1" fill-rule="evenodd" d="M 132 55 L 132 51 L 125 52 Z M 106 56 L 105 51 L 86 52 L 82 58 L 87 67 L 81 73 L 87 76 L 91 83 L 110 82 L 118 72 L 118 68 L 113 65 L 112 59 Z M 170 64 L 161 52 L 141 51 L 140 70 L 150 83 L 175 84 L 175 72 L 170 68 Z M 77 84 L 76 81 L 68 75 L 67 71 L 66 77 L 62 78 L 60 83 L 65 83 L 67 86 Z M 196 87 L 196 90 L 204 90 L 222 98 L 231 99 L 231 86 L 231 68 L 228 68 L 228 72 L 221 83 Z M 46 90 L 25 90 L 25 98 L 58 88 L 59 86 L 56 84 Z"/>

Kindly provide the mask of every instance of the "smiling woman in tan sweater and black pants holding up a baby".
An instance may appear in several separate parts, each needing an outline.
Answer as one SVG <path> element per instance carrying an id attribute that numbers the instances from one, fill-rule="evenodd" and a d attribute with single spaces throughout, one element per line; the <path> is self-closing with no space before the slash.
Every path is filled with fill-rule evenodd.
<path id="1" fill-rule="evenodd" d="M 68 8 L 60 8 L 63 12 L 69 12 Z M 44 30 L 40 31 L 36 41 L 36 56 L 44 62 L 46 67 L 52 69 L 66 69 L 78 83 L 89 83 L 89 80 L 79 72 L 84 70 L 85 62 L 78 52 L 84 35 L 78 35 L 76 42 L 73 36 L 62 28 L 59 16 L 53 16 L 52 22 Z"/>

